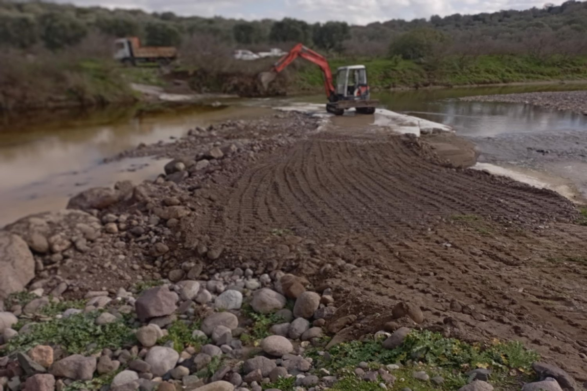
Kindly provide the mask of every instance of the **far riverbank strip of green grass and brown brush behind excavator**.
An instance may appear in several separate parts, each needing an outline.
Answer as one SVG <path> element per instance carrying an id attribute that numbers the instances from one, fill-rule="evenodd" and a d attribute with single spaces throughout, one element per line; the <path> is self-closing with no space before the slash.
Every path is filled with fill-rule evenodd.
<path id="1" fill-rule="evenodd" d="M 538 61 L 524 56 L 448 56 L 434 64 L 398 58 L 334 57 L 329 61 L 333 70 L 351 63 L 365 64 L 373 92 L 587 81 L 587 65 L 583 57 L 564 61 L 552 57 Z M 199 100 L 210 93 L 247 97 L 267 94 L 259 89 L 257 73 L 268 69 L 269 62 L 247 63 L 246 67 L 239 67 L 235 60 L 228 62 L 228 69 L 232 70 L 217 72 L 193 67 L 167 70 L 122 67 L 108 59 L 86 60 L 56 55 L 28 61 L 21 56 L 14 62 L 7 62 L 9 66 L 0 76 L 0 111 L 150 102 L 156 89 L 163 90 L 159 95 L 168 95 L 169 99 L 163 100 L 175 99 L 175 102 L 184 103 Z M 149 86 L 150 91 L 137 91 L 133 85 Z M 322 73 L 318 67 L 300 60 L 272 83 L 269 95 L 317 93 L 322 88 Z M 184 97 L 178 97 L 180 95 Z"/>

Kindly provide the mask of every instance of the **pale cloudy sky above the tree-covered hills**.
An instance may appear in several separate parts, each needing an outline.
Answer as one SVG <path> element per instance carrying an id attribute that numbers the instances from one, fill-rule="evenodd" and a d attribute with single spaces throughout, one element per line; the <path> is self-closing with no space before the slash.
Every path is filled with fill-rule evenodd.
<path id="1" fill-rule="evenodd" d="M 329 20 L 366 24 L 389 19 L 428 18 L 451 13 L 494 12 L 500 9 L 541 7 L 547 0 L 57 0 L 76 5 L 108 8 L 142 8 L 173 11 L 179 15 L 242 19 L 281 19 L 285 16 L 308 22 Z M 560 4 L 562 0 L 555 1 Z"/>

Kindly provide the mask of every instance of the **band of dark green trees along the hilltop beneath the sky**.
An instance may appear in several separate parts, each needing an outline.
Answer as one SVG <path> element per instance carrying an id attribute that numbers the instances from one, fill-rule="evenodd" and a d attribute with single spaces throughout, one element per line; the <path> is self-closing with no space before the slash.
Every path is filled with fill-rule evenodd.
<path id="1" fill-rule="evenodd" d="M 433 15 L 429 19 L 393 19 L 365 26 L 336 21 L 307 23 L 292 18 L 249 22 L 140 9 L 0 0 L 0 46 L 26 50 L 41 46 L 59 51 L 99 34 L 109 38 L 139 36 L 147 45 L 156 46 L 207 42 L 206 46 L 227 50 L 270 45 L 287 49 L 292 43 L 303 42 L 345 56 L 400 56 L 411 60 L 507 53 L 544 57 L 587 53 L 586 30 L 587 2 L 574 0 L 523 11 Z M 190 47 L 194 50 L 193 44 Z"/>

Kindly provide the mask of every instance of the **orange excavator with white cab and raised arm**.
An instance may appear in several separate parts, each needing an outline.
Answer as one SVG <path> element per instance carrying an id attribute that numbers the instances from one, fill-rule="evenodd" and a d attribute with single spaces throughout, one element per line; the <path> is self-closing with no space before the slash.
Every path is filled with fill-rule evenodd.
<path id="1" fill-rule="evenodd" d="M 355 108 L 360 114 L 373 114 L 379 101 L 370 98 L 369 84 L 367 84 L 367 69 L 364 65 L 339 67 L 336 70 L 336 86 L 332 79 L 332 71 L 328 60 L 302 43 L 294 46 L 287 55 L 274 64 L 269 72 L 259 74 L 259 80 L 266 90 L 278 73 L 284 70 L 298 57 L 315 63 L 322 70 L 324 88 L 328 103 L 326 111 L 335 115 L 342 115 L 345 110 Z"/>

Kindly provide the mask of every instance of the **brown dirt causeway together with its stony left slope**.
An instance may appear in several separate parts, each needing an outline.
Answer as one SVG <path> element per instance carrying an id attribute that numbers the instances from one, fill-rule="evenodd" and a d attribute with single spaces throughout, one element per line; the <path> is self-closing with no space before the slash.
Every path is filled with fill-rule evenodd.
<path id="1" fill-rule="evenodd" d="M 568 200 L 447 166 L 425 137 L 319 126 L 278 114 L 127 151 L 118 158 L 176 159 L 154 183 L 73 200 L 102 234 L 36 254 L 36 284 L 76 294 L 182 274 L 187 261 L 210 274 L 247 263 L 328 285 L 343 303 L 335 319 L 360 315 L 355 334 L 408 301 L 424 328 L 523 341 L 587 380 L 587 227 Z"/>

